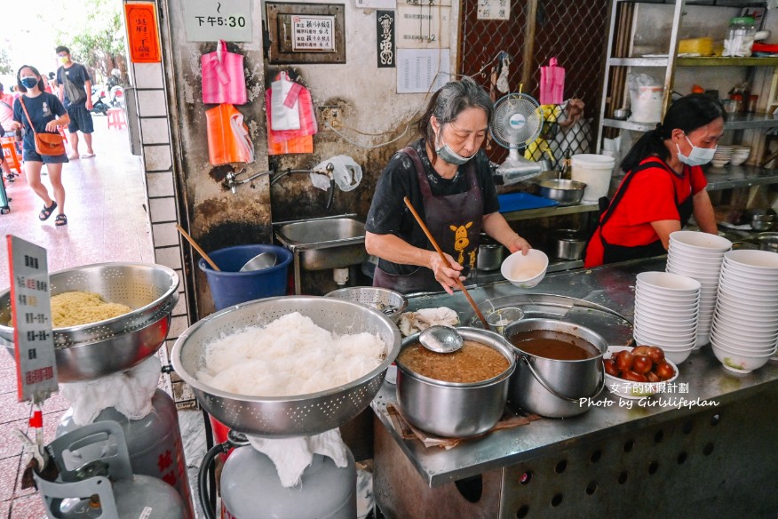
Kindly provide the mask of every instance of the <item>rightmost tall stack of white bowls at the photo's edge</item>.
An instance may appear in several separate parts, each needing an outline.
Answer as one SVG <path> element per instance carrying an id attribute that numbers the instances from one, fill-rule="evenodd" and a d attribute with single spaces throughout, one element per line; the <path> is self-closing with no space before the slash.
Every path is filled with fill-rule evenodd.
<path id="1" fill-rule="evenodd" d="M 724 255 L 711 347 L 727 370 L 748 373 L 775 354 L 778 340 L 778 254 Z"/>

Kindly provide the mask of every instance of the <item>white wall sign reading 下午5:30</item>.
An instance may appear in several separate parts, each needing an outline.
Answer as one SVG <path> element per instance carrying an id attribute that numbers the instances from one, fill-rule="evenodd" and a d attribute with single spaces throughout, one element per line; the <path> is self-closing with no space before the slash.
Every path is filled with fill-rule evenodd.
<path id="1" fill-rule="evenodd" d="M 189 42 L 250 42 L 250 0 L 187 0 L 184 25 Z"/>

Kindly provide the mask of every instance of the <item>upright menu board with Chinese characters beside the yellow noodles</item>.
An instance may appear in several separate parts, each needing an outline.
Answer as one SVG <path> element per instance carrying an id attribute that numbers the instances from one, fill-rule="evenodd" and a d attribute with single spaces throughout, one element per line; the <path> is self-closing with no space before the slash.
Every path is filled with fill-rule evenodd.
<path id="1" fill-rule="evenodd" d="M 40 403 L 57 390 L 46 251 L 16 236 L 7 244 L 19 400 Z"/>

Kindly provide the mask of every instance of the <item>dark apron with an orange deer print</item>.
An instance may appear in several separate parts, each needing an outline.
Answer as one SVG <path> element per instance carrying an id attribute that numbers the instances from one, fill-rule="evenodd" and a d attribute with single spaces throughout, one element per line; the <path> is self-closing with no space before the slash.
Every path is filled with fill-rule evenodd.
<path id="1" fill-rule="evenodd" d="M 483 196 L 475 174 L 475 160 L 471 160 L 467 172 L 468 190 L 458 195 L 434 196 L 427 180 L 424 164 L 415 148 L 407 147 L 408 154 L 416 167 L 419 188 L 424 198 L 425 224 L 441 250 L 451 255 L 464 267 L 463 275 L 475 269 L 478 255 L 480 226 L 483 220 Z M 427 244 L 433 251 L 433 245 Z M 418 267 L 408 275 L 389 274 L 376 267 L 373 286 L 388 288 L 401 293 L 417 291 L 441 291 L 441 283 L 435 279 L 430 268 Z"/>

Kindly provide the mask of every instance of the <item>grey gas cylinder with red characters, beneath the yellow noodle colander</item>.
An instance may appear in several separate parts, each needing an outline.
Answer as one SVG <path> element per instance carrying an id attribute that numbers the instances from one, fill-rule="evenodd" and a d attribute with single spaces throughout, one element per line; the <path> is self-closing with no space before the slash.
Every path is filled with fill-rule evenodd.
<path id="1" fill-rule="evenodd" d="M 94 421 L 117 422 L 123 429 L 130 451 L 132 472 L 136 475 L 150 475 L 170 483 L 184 501 L 186 517 L 193 519 L 194 509 L 176 403 L 162 389 L 157 389 L 151 404 L 151 412 L 142 419 L 128 419 L 114 407 L 108 407 L 100 411 Z M 71 408 L 65 411 L 60 419 L 57 437 L 76 428 L 78 426 L 73 421 Z"/>

